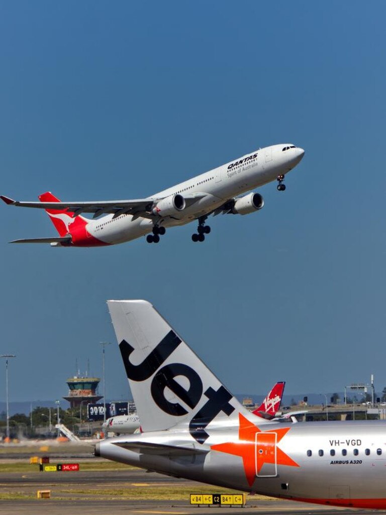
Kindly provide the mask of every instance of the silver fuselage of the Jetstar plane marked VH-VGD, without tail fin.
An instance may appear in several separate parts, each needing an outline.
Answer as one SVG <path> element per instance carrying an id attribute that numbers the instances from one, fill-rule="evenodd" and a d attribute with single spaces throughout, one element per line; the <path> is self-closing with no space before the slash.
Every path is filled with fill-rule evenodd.
<path id="1" fill-rule="evenodd" d="M 240 429 L 208 431 L 205 444 L 185 433 L 107 439 L 97 454 L 203 483 L 312 503 L 386 508 L 386 423 L 383 421 L 261 424 L 240 440 Z M 238 434 L 237 434 L 238 433 Z M 120 447 L 151 442 L 192 454 L 154 455 Z M 216 447 L 216 449 L 214 449 Z M 207 451 L 195 453 L 196 450 Z"/>

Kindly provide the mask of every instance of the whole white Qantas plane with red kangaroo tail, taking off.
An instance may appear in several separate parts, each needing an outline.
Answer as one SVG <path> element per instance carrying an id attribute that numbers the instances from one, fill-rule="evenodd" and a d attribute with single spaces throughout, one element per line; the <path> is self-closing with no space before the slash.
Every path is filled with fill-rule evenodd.
<path id="1" fill-rule="evenodd" d="M 9 205 L 45 209 L 59 237 L 16 239 L 10 243 L 49 243 L 54 247 L 96 247 L 129 242 L 146 235 L 159 243 L 168 227 L 198 221 L 194 242 L 203 242 L 211 214 L 246 215 L 259 211 L 264 199 L 253 188 L 277 180 L 284 191 L 285 175 L 303 158 L 304 150 L 290 143 L 260 148 L 150 197 L 136 200 L 61 202 L 50 192 L 40 202 L 20 202 L 5 195 Z M 93 213 L 93 219 L 81 216 Z M 102 218 L 99 216 L 105 215 Z"/>

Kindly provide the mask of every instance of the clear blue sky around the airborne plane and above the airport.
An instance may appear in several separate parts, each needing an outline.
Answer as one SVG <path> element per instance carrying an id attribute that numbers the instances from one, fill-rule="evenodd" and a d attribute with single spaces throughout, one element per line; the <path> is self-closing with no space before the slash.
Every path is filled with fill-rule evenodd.
<path id="1" fill-rule="evenodd" d="M 145 298 L 234 393 L 386 385 L 384 2 L 2 2 L 0 193 L 141 198 L 251 150 L 306 150 L 286 192 L 159 245 L 55 234 L 0 206 L 10 398 L 55 399 L 75 360 L 128 396 L 106 299 Z M 5 398 L 0 364 L 0 398 Z"/>

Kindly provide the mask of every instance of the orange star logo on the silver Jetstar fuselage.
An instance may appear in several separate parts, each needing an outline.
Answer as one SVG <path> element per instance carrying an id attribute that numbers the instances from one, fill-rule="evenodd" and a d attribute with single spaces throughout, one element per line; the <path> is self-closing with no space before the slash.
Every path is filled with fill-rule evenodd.
<path id="1" fill-rule="evenodd" d="M 239 440 L 212 445 L 210 449 L 241 456 L 245 476 L 249 486 L 252 486 L 256 473 L 259 474 L 264 464 L 288 465 L 299 467 L 292 458 L 284 453 L 277 443 L 288 433 L 290 427 L 283 429 L 261 431 L 255 424 L 239 413 Z M 259 436 L 256 438 L 256 434 Z M 276 435 L 276 436 L 275 436 Z M 256 449 L 255 449 L 256 446 Z"/>

